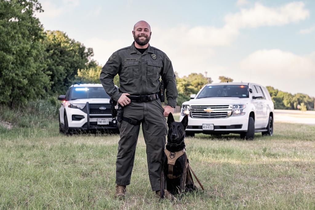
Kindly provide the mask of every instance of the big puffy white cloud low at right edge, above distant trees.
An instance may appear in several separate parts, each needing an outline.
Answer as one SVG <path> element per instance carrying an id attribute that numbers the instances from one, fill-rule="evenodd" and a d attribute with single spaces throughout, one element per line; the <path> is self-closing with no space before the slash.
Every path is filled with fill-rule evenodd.
<path id="1" fill-rule="evenodd" d="M 315 96 L 315 51 L 300 56 L 278 49 L 258 50 L 240 62 L 243 81 L 251 81 L 291 93 Z"/>

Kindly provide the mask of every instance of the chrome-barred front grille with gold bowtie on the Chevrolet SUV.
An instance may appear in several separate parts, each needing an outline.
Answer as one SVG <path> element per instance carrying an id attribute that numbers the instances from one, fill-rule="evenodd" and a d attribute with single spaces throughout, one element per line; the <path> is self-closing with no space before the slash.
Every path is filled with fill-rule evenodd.
<path id="1" fill-rule="evenodd" d="M 227 118 L 229 117 L 232 108 L 230 105 L 193 105 L 190 106 L 190 116 L 192 118 Z M 204 111 L 204 109 L 213 109 L 211 112 Z"/>

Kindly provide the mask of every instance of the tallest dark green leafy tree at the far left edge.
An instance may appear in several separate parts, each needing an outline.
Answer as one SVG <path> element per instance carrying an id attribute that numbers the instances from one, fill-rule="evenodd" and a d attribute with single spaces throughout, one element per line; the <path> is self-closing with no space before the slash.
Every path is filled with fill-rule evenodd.
<path id="1" fill-rule="evenodd" d="M 0 1 L 0 103 L 14 107 L 49 90 L 37 0 Z"/>

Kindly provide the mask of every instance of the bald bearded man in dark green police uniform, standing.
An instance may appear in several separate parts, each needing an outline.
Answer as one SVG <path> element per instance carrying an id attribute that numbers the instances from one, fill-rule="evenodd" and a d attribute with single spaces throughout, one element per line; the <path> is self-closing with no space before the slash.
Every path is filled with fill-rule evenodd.
<path id="1" fill-rule="evenodd" d="M 146 21 L 137 22 L 132 31 L 135 42 L 114 52 L 100 73 L 100 82 L 106 93 L 123 107 L 124 120 L 118 122 L 120 140 L 114 197 L 123 197 L 126 185 L 130 184 L 140 123 L 146 143 L 152 191 L 159 194 L 160 190 L 162 152 L 167 134 L 165 117 L 174 112 L 177 88 L 171 61 L 164 52 L 149 44 L 151 33 L 150 25 Z M 117 74 L 120 91 L 113 83 Z M 167 105 L 164 108 L 159 100 L 159 78 L 166 88 Z M 167 191 L 165 197 L 174 199 Z"/>

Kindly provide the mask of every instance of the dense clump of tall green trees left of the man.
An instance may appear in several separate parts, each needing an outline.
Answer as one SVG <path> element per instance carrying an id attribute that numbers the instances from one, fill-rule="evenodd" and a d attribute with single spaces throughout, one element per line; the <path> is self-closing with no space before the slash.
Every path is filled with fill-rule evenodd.
<path id="1" fill-rule="evenodd" d="M 37 0 L 0 1 L 0 103 L 10 107 L 64 93 L 78 70 L 97 67 L 92 48 L 44 31 L 36 12 L 43 12 Z"/>

